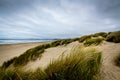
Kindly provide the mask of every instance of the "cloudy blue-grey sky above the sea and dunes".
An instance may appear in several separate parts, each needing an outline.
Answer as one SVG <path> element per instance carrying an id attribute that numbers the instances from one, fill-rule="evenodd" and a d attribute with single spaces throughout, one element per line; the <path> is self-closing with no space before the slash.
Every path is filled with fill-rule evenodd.
<path id="1" fill-rule="evenodd" d="M 120 0 L 0 0 L 0 39 L 79 37 L 119 21 Z"/>

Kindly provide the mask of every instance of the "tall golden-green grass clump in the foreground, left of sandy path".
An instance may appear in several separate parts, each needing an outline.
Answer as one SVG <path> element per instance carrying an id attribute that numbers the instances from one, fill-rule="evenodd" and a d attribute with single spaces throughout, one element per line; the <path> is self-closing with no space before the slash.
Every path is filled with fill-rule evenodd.
<path id="1" fill-rule="evenodd" d="M 50 80 L 96 80 L 101 65 L 101 52 L 77 48 L 60 57 L 45 69 Z"/>

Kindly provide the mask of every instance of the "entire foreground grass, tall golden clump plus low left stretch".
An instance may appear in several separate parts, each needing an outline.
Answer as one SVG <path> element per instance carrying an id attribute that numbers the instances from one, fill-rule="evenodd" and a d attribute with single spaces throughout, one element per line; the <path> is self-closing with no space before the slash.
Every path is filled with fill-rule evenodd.
<path id="1" fill-rule="evenodd" d="M 70 55 L 50 63 L 45 70 L 0 69 L 0 80 L 98 80 L 101 57 L 101 52 L 93 48 L 76 48 Z"/>

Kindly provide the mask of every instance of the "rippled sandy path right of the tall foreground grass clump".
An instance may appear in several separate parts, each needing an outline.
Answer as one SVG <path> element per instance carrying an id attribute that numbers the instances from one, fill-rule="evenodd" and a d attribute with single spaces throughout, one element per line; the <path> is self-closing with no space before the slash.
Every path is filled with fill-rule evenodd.
<path id="1" fill-rule="evenodd" d="M 103 51 L 101 80 L 120 80 L 120 67 L 117 67 L 114 62 L 114 59 L 120 53 L 120 43 L 105 42 L 100 48 Z"/>

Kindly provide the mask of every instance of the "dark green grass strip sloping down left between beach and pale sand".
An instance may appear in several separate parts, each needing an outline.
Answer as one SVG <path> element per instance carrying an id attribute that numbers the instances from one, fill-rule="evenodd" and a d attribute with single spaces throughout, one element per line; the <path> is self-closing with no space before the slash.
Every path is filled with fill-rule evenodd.
<path id="1" fill-rule="evenodd" d="M 7 68 L 11 64 L 13 64 L 15 67 L 26 65 L 29 61 L 34 61 L 37 58 L 40 58 L 42 56 L 42 53 L 45 51 L 45 48 L 49 48 L 49 46 L 49 44 L 44 44 L 35 48 L 31 48 L 20 56 L 4 62 L 2 67 Z"/>

